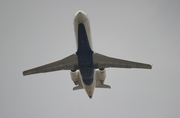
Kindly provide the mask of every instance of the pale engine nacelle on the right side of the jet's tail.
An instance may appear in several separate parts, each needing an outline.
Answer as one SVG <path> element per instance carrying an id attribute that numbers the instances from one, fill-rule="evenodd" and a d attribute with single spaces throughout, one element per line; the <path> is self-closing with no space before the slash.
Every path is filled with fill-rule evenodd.
<path id="1" fill-rule="evenodd" d="M 96 70 L 95 77 L 96 77 L 96 80 L 104 81 L 106 78 L 106 70 L 105 69 Z"/>

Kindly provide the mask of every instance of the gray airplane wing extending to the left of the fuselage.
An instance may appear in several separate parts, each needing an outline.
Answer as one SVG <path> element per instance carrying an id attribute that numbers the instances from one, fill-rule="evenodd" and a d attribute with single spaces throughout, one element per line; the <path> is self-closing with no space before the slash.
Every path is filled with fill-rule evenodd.
<path id="1" fill-rule="evenodd" d="M 52 62 L 43 66 L 39 66 L 23 72 L 23 75 L 30 75 L 36 73 L 52 72 L 57 70 L 77 70 L 78 59 L 76 54 L 72 54 L 62 60 Z"/>

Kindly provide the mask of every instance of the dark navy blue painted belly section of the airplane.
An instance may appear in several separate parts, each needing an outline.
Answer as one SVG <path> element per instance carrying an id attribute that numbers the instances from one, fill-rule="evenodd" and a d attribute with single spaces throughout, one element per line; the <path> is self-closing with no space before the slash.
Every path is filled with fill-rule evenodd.
<path id="1" fill-rule="evenodd" d="M 85 26 L 82 23 L 78 25 L 78 49 L 76 54 L 82 80 L 84 84 L 91 85 L 94 79 L 93 51 L 90 48 Z"/>

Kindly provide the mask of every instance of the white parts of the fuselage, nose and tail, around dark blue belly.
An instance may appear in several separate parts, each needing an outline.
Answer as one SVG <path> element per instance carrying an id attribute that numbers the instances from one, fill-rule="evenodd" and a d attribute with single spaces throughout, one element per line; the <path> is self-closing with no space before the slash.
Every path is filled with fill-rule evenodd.
<path id="1" fill-rule="evenodd" d="M 83 24 L 86 30 L 86 34 L 87 34 L 87 38 L 88 38 L 88 42 L 90 45 L 90 48 L 92 50 L 92 41 L 91 41 L 91 34 L 90 34 L 90 24 L 89 24 L 89 19 L 87 17 L 87 14 L 84 13 L 83 11 L 78 11 L 75 16 L 74 16 L 74 31 L 75 31 L 75 37 L 76 37 L 76 45 L 78 48 L 78 25 L 79 24 Z M 95 77 L 94 77 L 95 78 Z M 94 88 L 96 86 L 96 81 L 95 79 L 93 79 L 93 82 L 91 85 L 86 85 L 83 81 L 82 81 L 82 76 L 80 73 L 80 79 L 81 79 L 81 83 L 84 87 L 84 89 L 86 90 L 88 96 L 91 98 L 94 92 Z"/>

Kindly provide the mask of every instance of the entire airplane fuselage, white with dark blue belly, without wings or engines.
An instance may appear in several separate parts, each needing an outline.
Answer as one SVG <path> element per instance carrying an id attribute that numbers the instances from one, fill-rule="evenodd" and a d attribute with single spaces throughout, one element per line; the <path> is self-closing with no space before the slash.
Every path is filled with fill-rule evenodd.
<path id="1" fill-rule="evenodd" d="M 88 96 L 91 98 L 94 88 L 93 51 L 90 34 L 90 25 L 87 15 L 78 11 L 74 17 L 74 30 L 77 44 L 78 66 L 81 74 L 81 82 Z"/>

